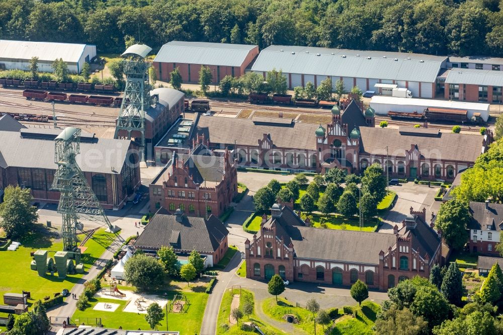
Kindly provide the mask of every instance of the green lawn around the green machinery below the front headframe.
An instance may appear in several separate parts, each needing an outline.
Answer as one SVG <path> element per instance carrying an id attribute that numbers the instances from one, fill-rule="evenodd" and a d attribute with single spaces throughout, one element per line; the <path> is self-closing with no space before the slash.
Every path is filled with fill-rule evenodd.
<path id="1" fill-rule="evenodd" d="M 82 238 L 82 237 L 80 237 Z M 0 252 L 0 296 L 7 292 L 21 293 L 21 291 L 31 292 L 32 299 L 29 300 L 31 305 L 38 299 L 43 299 L 45 296 L 52 296 L 53 293 L 61 292 L 63 289 L 71 289 L 73 285 L 83 276 L 83 274 L 69 275 L 65 279 L 59 279 L 57 275 L 47 277 L 39 277 L 36 271 L 30 269 L 32 258 L 30 253 L 37 249 L 46 249 L 57 252 L 63 248 L 62 241 L 55 242 L 48 235 L 39 232 L 31 232 L 20 238 L 21 246 L 15 251 Z M 83 255 L 83 261 L 90 262 L 99 258 L 105 250 L 105 239 L 102 234 L 98 234 L 96 239 L 90 239 L 86 243 L 89 246 Z M 108 246 L 108 245 L 107 245 Z M 49 253 L 50 257 L 54 253 Z M 89 269 L 90 264 L 85 264 L 85 268 Z M 2 316 L 2 315 L 0 315 Z"/>

